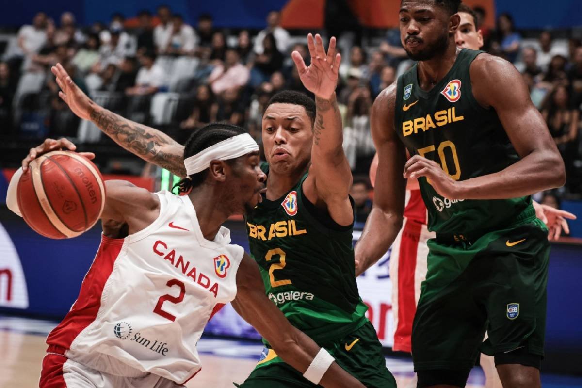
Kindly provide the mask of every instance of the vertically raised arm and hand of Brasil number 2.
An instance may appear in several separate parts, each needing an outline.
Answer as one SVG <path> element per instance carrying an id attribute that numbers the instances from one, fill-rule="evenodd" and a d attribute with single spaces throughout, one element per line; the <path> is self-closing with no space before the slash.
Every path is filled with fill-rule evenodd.
<path id="1" fill-rule="evenodd" d="M 298 52 L 292 54 L 301 82 L 315 94 L 316 105 L 311 167 L 303 191 L 317 207 L 327 209 L 335 222 L 350 225 L 353 211 L 348 193 L 352 172 L 342 148 L 342 117 L 335 96 L 341 56 L 336 54 L 334 37 L 327 53 L 319 34 L 307 35 L 307 47 L 311 55 L 309 66 Z"/>

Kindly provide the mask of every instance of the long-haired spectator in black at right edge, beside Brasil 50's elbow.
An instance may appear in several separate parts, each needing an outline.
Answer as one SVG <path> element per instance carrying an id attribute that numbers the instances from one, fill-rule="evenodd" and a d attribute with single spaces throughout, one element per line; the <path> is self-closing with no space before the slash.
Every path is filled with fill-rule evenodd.
<path id="1" fill-rule="evenodd" d="M 570 92 L 566 86 L 556 87 L 549 95 L 548 106 L 543 109 L 542 116 L 548 124 L 553 140 L 558 145 L 560 154 L 566 165 L 566 173 L 572 165 L 580 125 L 580 111 L 573 108 Z"/>

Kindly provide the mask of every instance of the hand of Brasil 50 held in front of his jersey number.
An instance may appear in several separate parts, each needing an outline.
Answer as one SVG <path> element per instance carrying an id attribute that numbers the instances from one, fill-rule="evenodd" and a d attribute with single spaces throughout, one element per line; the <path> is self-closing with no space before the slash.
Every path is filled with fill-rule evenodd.
<path id="1" fill-rule="evenodd" d="M 457 181 L 444 172 L 437 162 L 424 158 L 424 156 L 414 155 L 404 165 L 404 178 L 417 179 L 421 176 L 427 178 L 428 183 L 437 190 L 437 193 L 449 200 L 464 200 L 459 198 Z"/>

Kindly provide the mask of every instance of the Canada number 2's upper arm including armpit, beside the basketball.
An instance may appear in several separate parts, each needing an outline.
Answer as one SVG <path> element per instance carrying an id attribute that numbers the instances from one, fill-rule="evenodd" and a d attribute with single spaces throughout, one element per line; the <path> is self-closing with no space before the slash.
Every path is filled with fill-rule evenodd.
<path id="1" fill-rule="evenodd" d="M 130 234 L 139 232 L 158 218 L 158 195 L 145 188 L 126 180 L 106 180 L 105 191 L 101 219 L 127 223 Z"/>

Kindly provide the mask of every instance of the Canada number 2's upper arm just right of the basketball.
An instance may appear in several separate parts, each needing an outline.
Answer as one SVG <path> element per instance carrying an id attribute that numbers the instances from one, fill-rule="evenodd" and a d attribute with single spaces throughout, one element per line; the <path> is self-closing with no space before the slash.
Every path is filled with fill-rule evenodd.
<path id="1" fill-rule="evenodd" d="M 106 180 L 105 191 L 101 219 L 126 222 L 130 215 L 143 214 L 159 206 L 157 195 L 126 180 Z"/>

